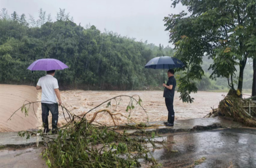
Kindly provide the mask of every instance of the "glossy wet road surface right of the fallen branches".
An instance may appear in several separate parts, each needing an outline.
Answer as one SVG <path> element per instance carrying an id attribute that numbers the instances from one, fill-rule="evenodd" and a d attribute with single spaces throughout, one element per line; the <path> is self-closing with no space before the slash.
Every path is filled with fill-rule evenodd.
<path id="1" fill-rule="evenodd" d="M 164 168 L 256 168 L 256 130 L 246 128 L 212 130 L 164 137 L 167 149 L 153 150 Z M 231 167 L 232 168 L 232 167 Z"/>

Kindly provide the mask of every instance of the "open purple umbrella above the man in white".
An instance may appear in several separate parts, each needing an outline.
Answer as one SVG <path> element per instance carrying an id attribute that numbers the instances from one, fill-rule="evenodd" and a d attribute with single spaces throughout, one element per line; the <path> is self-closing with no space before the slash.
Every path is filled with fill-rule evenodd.
<path id="1" fill-rule="evenodd" d="M 56 59 L 40 59 L 33 62 L 27 69 L 31 71 L 51 71 L 69 68 L 62 61 Z"/>

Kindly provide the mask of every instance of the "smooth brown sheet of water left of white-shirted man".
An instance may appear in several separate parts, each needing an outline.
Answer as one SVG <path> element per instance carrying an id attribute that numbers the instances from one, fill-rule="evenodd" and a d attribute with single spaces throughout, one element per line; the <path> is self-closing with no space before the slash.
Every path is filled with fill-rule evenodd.
<path id="1" fill-rule="evenodd" d="M 39 103 L 34 104 L 34 107 L 30 106 L 28 116 L 25 117 L 19 110 L 11 120 L 8 120 L 25 100 L 36 102 L 37 93 L 33 86 L 0 84 L 0 132 L 22 131 L 40 126 L 34 114 L 34 110 L 37 113 Z"/>

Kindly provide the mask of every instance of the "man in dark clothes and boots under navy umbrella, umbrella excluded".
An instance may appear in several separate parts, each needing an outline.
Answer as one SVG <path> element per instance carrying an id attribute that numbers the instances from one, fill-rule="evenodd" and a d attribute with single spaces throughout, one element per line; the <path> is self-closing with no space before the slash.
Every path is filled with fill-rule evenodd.
<path id="1" fill-rule="evenodd" d="M 165 122 L 166 126 L 174 125 L 174 109 L 173 109 L 173 101 L 174 101 L 174 93 L 176 87 L 176 79 L 174 78 L 174 70 L 169 69 L 168 74 L 168 82 L 166 84 L 162 84 L 165 88 L 163 91 L 163 97 L 165 97 L 165 105 L 168 110 L 168 120 Z"/>

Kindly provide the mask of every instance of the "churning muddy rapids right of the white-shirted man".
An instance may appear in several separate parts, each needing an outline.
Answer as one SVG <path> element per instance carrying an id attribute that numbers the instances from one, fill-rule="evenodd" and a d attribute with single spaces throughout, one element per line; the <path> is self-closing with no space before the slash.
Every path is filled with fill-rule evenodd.
<path id="1" fill-rule="evenodd" d="M 131 114 L 126 112 L 126 107 L 130 102 L 129 97 L 117 98 L 117 102 L 112 100 L 111 107 L 106 108 L 107 102 L 87 114 L 87 119 L 90 120 L 94 114 L 99 109 L 110 109 L 113 113 L 121 113 L 125 116 L 129 116 L 131 120 L 136 122 L 146 122 L 147 115 L 149 121 L 164 121 L 167 120 L 167 108 L 165 106 L 164 98 L 162 97 L 162 91 L 84 91 L 84 90 L 68 90 L 62 91 L 62 102 L 66 108 L 74 114 L 84 114 L 88 110 L 96 107 L 100 103 L 119 95 L 138 95 L 142 99 L 141 105 L 144 107 L 147 114 L 144 112 L 143 108 L 136 105 L 134 102 L 135 109 L 131 111 Z M 175 93 L 174 100 L 174 110 L 175 119 L 184 120 L 191 118 L 204 117 L 211 111 L 212 108 L 217 108 L 219 101 L 223 99 L 222 95 L 226 93 L 215 93 L 215 92 L 203 92 L 199 91 L 197 94 L 191 94 L 194 97 L 193 103 L 183 103 L 180 99 L 179 93 Z M 138 100 L 138 96 L 134 96 Z M 40 108 L 40 107 L 39 107 Z M 61 110 L 61 109 L 60 109 Z M 39 113 L 40 109 L 39 109 Z M 121 115 L 116 115 L 117 123 L 124 124 L 127 123 L 127 119 Z M 60 123 L 63 123 L 63 114 L 60 113 Z M 98 114 L 95 121 L 106 123 L 112 125 L 112 120 L 106 112 Z"/>

